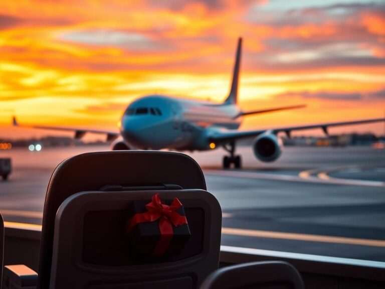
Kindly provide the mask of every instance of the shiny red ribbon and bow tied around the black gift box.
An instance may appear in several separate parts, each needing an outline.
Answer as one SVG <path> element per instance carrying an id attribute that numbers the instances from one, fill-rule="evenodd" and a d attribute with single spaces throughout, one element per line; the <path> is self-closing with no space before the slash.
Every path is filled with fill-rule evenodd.
<path id="1" fill-rule="evenodd" d="M 171 205 L 162 204 L 159 194 L 152 196 L 152 201 L 146 205 L 147 212 L 135 214 L 126 224 L 126 231 L 139 223 L 154 222 L 159 219 L 160 239 L 152 255 L 161 256 L 164 254 L 171 242 L 173 231 L 172 226 L 187 224 L 185 216 L 176 211 L 182 206 L 177 198 L 174 198 Z"/>

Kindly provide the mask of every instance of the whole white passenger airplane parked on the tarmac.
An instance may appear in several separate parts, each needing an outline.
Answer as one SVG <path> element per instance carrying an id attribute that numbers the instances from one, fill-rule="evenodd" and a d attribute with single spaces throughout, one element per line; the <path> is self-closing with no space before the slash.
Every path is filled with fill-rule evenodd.
<path id="1" fill-rule="evenodd" d="M 262 162 L 273 162 L 282 154 L 282 140 L 277 136 L 285 132 L 385 121 L 385 118 L 361 119 L 343 122 L 328 122 L 299 126 L 282 126 L 270 129 L 238 130 L 242 119 L 249 115 L 301 108 L 293 105 L 243 111 L 238 106 L 238 80 L 241 63 L 242 38 L 238 39 L 236 59 L 230 93 L 223 103 L 186 100 L 165 95 L 147 95 L 132 101 L 119 121 L 119 131 L 74 127 L 29 125 L 28 127 L 74 131 L 75 138 L 86 132 L 103 133 L 112 141 L 112 150 L 177 150 L 206 151 L 223 147 L 229 156 L 224 156 L 225 169 L 234 165 L 242 167 L 241 156 L 235 154 L 236 141 L 255 137 L 252 148 L 255 157 Z M 19 126 L 16 117 L 13 124 Z M 25 125 L 24 125 L 25 126 Z"/>

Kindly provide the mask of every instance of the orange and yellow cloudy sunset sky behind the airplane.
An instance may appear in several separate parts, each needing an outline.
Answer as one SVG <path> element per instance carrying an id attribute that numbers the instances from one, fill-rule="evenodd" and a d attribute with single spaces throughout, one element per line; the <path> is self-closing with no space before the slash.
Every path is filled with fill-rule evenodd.
<path id="1" fill-rule="evenodd" d="M 220 102 L 240 36 L 241 107 L 308 105 L 242 129 L 385 115 L 384 1 L 12 0 L 0 3 L 0 137 L 47 134 L 10 127 L 13 114 L 111 129 L 146 94 Z M 343 130 L 385 133 L 331 132 Z"/>

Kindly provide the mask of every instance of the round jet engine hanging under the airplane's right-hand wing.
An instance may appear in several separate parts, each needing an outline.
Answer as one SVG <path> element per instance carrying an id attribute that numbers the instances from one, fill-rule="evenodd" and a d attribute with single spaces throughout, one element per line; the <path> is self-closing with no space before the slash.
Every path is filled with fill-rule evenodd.
<path id="1" fill-rule="evenodd" d="M 281 156 L 282 148 L 282 140 L 270 132 L 257 136 L 253 144 L 254 155 L 261 162 L 274 162 Z"/>

